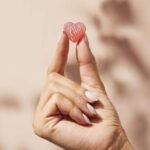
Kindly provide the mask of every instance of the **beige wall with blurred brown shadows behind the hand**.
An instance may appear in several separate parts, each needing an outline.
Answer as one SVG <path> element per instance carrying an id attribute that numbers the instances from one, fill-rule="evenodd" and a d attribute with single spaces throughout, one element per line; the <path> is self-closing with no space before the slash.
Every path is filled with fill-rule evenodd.
<path id="1" fill-rule="evenodd" d="M 0 0 L 0 150 L 59 149 L 33 134 L 32 116 L 66 21 L 87 26 L 128 137 L 137 149 L 150 149 L 149 5 L 149 0 Z M 67 74 L 77 80 L 73 48 Z"/>

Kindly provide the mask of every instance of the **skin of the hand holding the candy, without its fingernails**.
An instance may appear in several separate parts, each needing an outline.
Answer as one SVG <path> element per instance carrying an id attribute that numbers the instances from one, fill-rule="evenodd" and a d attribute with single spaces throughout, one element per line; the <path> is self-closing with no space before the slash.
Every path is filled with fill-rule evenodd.
<path id="1" fill-rule="evenodd" d="M 63 33 L 35 111 L 35 134 L 67 150 L 133 150 L 99 77 L 87 36 L 76 45 L 81 84 L 64 76 L 68 51 L 69 40 Z M 98 100 L 91 102 L 87 90 Z"/>

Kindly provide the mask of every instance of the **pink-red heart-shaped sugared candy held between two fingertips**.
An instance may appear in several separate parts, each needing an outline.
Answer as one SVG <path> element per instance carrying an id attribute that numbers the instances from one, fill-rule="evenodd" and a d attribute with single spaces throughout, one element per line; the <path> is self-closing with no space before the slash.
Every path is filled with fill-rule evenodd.
<path id="1" fill-rule="evenodd" d="M 64 25 L 64 33 L 66 33 L 69 40 L 71 40 L 74 43 L 80 41 L 83 38 L 85 31 L 86 27 L 81 22 L 78 23 L 67 22 Z"/>

